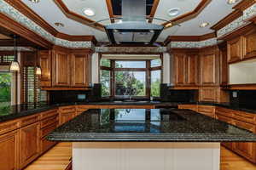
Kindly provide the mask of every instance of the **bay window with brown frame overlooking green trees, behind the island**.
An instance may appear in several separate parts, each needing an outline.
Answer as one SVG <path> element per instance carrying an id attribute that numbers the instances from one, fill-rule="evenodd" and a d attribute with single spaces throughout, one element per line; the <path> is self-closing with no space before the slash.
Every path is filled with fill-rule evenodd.
<path id="1" fill-rule="evenodd" d="M 161 59 L 101 59 L 102 97 L 116 99 L 160 97 Z"/>

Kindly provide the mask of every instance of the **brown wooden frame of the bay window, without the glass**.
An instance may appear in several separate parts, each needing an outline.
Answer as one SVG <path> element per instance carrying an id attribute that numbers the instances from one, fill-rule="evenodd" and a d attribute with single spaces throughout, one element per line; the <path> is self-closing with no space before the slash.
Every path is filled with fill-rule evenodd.
<path id="1" fill-rule="evenodd" d="M 146 73 L 146 95 L 145 96 L 132 96 L 131 99 L 150 99 L 151 95 L 151 71 L 160 70 L 160 83 L 163 82 L 163 55 L 160 54 L 161 65 L 151 67 L 150 61 L 153 59 L 110 59 L 110 67 L 101 65 L 102 54 L 99 56 L 99 73 L 102 70 L 110 71 L 110 95 L 102 96 L 102 99 L 126 99 L 125 97 L 119 97 L 115 95 L 116 91 L 116 81 L 115 81 L 115 72 L 116 71 L 145 71 Z M 145 68 L 116 68 L 116 61 L 145 61 Z M 99 74 L 99 80 L 101 80 L 101 75 Z M 154 97 L 157 98 L 157 97 Z"/>

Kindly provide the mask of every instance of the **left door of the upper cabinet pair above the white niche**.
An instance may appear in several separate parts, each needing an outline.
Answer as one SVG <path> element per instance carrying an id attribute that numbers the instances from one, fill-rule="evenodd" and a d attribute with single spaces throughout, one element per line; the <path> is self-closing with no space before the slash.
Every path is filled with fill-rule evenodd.
<path id="1" fill-rule="evenodd" d="M 242 56 L 242 41 L 241 37 L 228 42 L 228 62 L 240 61 Z"/>

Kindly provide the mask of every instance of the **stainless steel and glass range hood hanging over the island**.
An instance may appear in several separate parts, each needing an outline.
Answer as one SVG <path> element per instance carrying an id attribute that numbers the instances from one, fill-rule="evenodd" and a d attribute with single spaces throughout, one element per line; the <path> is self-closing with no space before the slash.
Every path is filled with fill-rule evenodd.
<path id="1" fill-rule="evenodd" d="M 112 43 L 153 43 L 164 26 L 146 21 L 146 0 L 122 0 L 122 22 L 105 26 Z"/>

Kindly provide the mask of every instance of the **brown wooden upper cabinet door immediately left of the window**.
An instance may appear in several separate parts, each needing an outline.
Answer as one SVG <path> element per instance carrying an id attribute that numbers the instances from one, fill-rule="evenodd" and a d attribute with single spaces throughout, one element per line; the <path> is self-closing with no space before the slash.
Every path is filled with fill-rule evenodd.
<path id="1" fill-rule="evenodd" d="M 71 57 L 71 86 L 89 87 L 91 82 L 90 54 L 72 54 Z"/>

